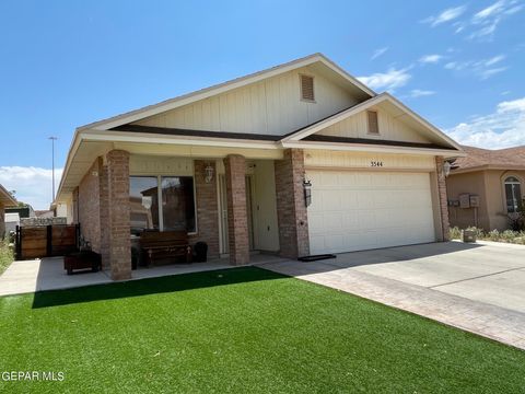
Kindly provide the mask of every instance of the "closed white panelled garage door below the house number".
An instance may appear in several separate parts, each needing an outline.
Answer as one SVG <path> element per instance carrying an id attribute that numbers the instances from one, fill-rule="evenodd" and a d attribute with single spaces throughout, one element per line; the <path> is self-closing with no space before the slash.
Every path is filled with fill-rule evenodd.
<path id="1" fill-rule="evenodd" d="M 307 171 L 311 254 L 435 241 L 430 174 Z"/>

